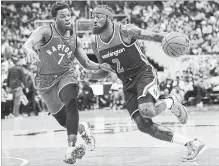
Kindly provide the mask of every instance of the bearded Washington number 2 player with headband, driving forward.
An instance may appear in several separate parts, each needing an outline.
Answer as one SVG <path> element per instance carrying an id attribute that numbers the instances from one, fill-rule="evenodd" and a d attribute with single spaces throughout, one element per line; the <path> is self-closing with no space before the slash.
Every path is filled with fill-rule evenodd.
<path id="1" fill-rule="evenodd" d="M 198 139 L 187 137 L 158 125 L 152 118 L 168 109 L 185 124 L 188 119 L 186 108 L 174 94 L 165 100 L 158 100 L 159 85 L 156 71 L 137 45 L 137 40 L 161 42 L 165 34 L 148 33 L 138 27 L 113 23 L 113 11 L 106 5 L 97 6 L 92 13 L 93 51 L 100 63 L 108 63 L 108 71 L 99 70 L 91 79 L 101 79 L 113 71 L 123 82 L 126 108 L 138 129 L 150 136 L 188 148 L 183 161 L 194 161 L 204 148 Z"/>

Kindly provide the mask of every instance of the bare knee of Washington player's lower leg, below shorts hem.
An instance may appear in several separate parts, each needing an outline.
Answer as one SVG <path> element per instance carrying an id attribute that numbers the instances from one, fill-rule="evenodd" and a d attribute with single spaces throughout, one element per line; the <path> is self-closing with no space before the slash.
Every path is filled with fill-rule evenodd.
<path id="1" fill-rule="evenodd" d="M 150 127 L 153 125 L 153 121 L 150 118 L 143 118 L 138 114 L 134 121 L 141 132 L 150 134 Z"/>

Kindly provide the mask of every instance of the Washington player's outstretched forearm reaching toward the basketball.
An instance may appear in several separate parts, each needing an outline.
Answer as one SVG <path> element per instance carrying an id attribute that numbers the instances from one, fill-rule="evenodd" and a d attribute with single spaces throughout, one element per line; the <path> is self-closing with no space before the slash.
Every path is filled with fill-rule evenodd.
<path id="1" fill-rule="evenodd" d="M 145 30 L 142 30 L 139 34 L 135 34 L 133 38 L 139 39 L 139 40 L 148 40 L 148 41 L 154 41 L 154 42 L 162 42 L 163 38 L 168 33 L 162 32 L 162 33 L 154 33 L 154 32 L 147 32 Z"/>

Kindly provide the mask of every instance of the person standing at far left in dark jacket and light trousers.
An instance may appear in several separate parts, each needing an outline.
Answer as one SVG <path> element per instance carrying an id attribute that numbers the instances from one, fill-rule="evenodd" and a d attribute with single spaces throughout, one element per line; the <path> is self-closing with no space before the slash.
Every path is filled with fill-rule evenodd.
<path id="1" fill-rule="evenodd" d="M 14 67 L 8 71 L 7 85 L 10 91 L 13 93 L 13 115 L 18 117 L 20 114 L 20 104 L 28 103 L 26 96 L 23 93 L 23 88 L 26 88 L 26 81 L 24 71 L 21 66 L 18 66 L 18 58 L 13 56 L 12 60 L 15 64 Z M 28 91 L 26 89 L 26 91 Z"/>

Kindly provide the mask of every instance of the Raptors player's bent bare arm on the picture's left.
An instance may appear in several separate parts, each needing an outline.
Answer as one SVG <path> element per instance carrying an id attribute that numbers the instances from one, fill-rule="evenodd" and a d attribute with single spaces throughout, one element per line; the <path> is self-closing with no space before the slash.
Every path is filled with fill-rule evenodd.
<path id="1" fill-rule="evenodd" d="M 33 47 L 42 41 L 42 39 L 45 37 L 50 38 L 51 36 L 51 28 L 48 25 L 41 26 L 37 28 L 27 39 L 27 41 L 23 45 L 23 50 L 27 54 L 26 60 L 29 63 L 34 63 L 37 61 L 40 61 L 37 53 L 34 51 Z"/>

